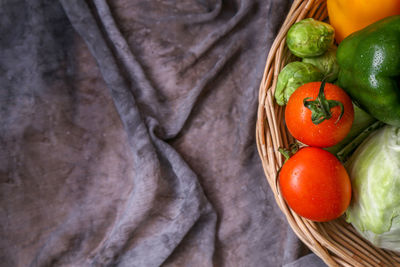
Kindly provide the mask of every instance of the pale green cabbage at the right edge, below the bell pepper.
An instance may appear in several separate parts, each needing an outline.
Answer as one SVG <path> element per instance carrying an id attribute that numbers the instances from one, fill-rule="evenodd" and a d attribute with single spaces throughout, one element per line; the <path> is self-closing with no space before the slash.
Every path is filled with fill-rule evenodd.
<path id="1" fill-rule="evenodd" d="M 374 245 L 400 251 L 400 128 L 386 125 L 350 158 L 346 220 Z"/>

